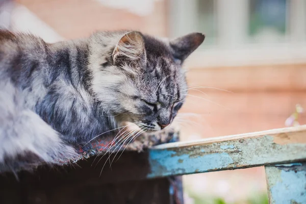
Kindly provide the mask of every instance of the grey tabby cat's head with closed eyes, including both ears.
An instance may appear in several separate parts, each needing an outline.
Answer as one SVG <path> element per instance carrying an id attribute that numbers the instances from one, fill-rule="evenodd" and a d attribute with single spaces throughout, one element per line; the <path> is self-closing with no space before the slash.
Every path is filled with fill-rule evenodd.
<path id="1" fill-rule="evenodd" d="M 187 94 L 182 63 L 204 38 L 200 33 L 174 40 L 135 31 L 95 34 L 92 87 L 104 111 L 150 131 L 169 125 Z"/>

